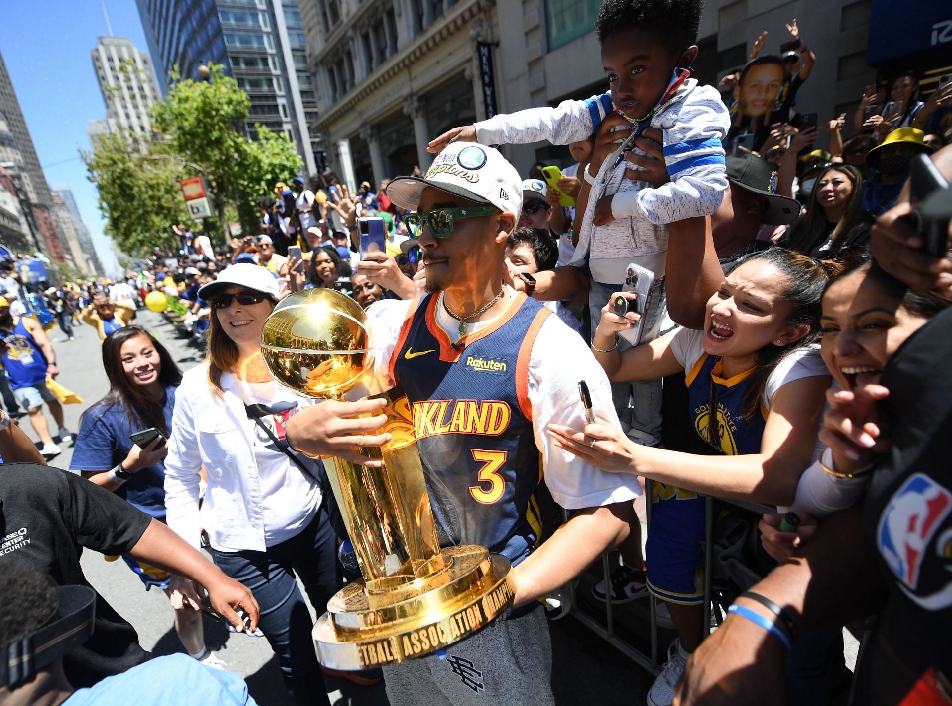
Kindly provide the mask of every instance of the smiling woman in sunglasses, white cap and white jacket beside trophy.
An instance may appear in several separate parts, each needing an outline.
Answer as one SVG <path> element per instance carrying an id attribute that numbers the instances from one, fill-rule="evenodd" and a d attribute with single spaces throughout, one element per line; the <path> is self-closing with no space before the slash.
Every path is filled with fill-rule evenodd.
<path id="1" fill-rule="evenodd" d="M 208 355 L 185 373 L 172 414 L 165 481 L 169 527 L 198 546 L 204 465 L 203 513 L 215 563 L 244 583 L 261 605 L 259 626 L 278 656 L 290 695 L 300 704 L 327 704 L 296 578 L 318 615 L 323 613 L 338 587 L 337 541 L 327 520 L 330 494 L 323 488 L 323 466 L 290 451 L 285 440 L 288 418 L 312 402 L 278 385 L 261 354 L 265 321 L 278 301 L 278 280 L 256 265 L 232 265 L 199 296 L 212 309 Z M 335 405 L 340 406 L 326 402 L 321 408 L 333 414 Z M 380 405 L 347 408 L 356 415 Z M 381 417 L 366 421 L 382 426 Z M 352 423 L 341 434 L 368 428 L 374 427 Z M 327 453 L 355 455 L 346 447 L 328 446 Z M 361 683 L 360 676 L 351 680 Z"/>

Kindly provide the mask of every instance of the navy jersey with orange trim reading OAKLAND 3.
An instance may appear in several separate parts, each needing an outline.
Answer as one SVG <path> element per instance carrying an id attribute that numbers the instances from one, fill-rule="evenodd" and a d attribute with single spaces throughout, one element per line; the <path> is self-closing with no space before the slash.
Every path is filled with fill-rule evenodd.
<path id="1" fill-rule="evenodd" d="M 516 563 L 541 533 L 528 366 L 551 311 L 520 292 L 454 348 L 438 303 L 430 294 L 407 316 L 390 373 L 407 393 L 440 543 L 482 544 Z"/>

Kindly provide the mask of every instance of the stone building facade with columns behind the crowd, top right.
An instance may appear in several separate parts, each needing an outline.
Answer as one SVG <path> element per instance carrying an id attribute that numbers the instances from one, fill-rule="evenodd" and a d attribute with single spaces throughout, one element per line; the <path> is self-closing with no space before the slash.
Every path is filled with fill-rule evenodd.
<path id="1" fill-rule="evenodd" d="M 342 156 L 349 157 L 357 182 L 426 169 L 430 139 L 492 111 L 608 91 L 594 29 L 601 0 L 300 3 L 318 87 L 311 129 L 324 136 L 335 167 L 347 172 Z M 928 92 L 952 72 L 952 11 L 925 5 L 926 12 L 903 12 L 894 0 L 708 0 L 694 77 L 718 85 L 744 66 L 764 30 L 762 54 L 780 53 L 796 18 L 817 63 L 794 110 L 816 112 L 821 125 L 845 112 L 849 135 L 863 90 L 878 77 L 913 68 Z M 902 41 L 888 31 L 899 25 Z M 567 148 L 544 143 L 503 152 L 524 173 L 535 161 L 571 163 Z"/>

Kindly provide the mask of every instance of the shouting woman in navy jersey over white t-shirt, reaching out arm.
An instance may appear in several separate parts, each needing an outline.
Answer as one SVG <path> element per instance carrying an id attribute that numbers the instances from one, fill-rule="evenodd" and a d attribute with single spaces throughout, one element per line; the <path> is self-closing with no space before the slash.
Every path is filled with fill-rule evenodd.
<path id="1" fill-rule="evenodd" d="M 684 660 L 701 643 L 702 494 L 788 505 L 803 470 L 823 450 L 817 423 L 830 375 L 815 341 L 823 287 L 840 269 L 782 248 L 759 253 L 708 299 L 703 331 L 676 329 L 623 353 L 615 335 L 637 314 L 613 313 L 612 294 L 592 340 L 608 377 L 684 371 L 691 426 L 713 455 L 640 446 L 602 422 L 586 425 L 585 434 L 550 425 L 563 448 L 593 465 L 655 481 L 643 580 L 667 601 L 680 644 L 672 645 L 649 703 L 670 703 Z"/>

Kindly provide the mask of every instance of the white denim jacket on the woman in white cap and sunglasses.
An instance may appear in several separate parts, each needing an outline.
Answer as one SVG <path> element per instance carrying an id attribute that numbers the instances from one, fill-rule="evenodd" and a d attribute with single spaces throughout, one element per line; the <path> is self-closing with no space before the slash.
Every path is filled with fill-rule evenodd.
<path id="1" fill-rule="evenodd" d="M 213 394 L 208 385 L 208 363 L 192 368 L 182 378 L 175 394 L 166 456 L 166 521 L 173 532 L 199 546 L 199 472 L 204 465 L 208 491 L 202 519 L 211 546 L 221 552 L 264 552 L 266 523 L 270 544 L 298 534 L 316 514 L 321 492 L 314 477 L 288 459 L 283 475 L 268 479 L 272 490 L 265 497 L 245 403 L 228 389 L 234 383 L 234 375 L 224 373 L 224 393 L 221 397 Z M 282 399 L 295 399 L 300 408 L 313 404 L 285 391 L 279 394 Z M 311 459 L 296 455 L 316 470 Z"/>

